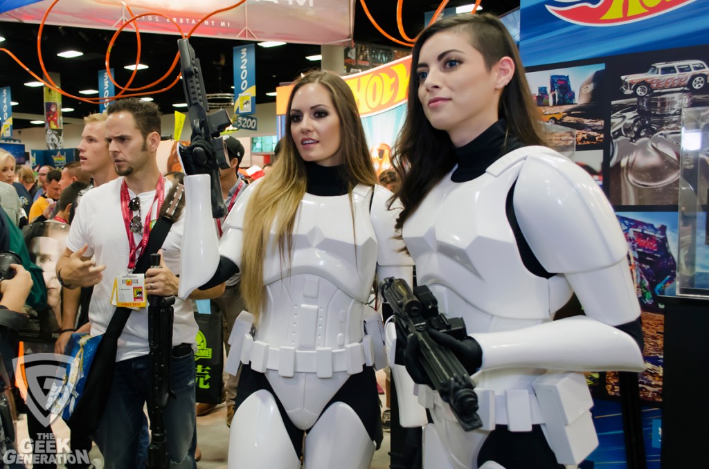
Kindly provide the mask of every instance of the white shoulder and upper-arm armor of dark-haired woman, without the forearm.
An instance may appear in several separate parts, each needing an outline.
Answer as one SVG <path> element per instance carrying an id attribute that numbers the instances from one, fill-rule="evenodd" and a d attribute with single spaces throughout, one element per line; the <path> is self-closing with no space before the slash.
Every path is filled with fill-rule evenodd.
<path id="1" fill-rule="evenodd" d="M 514 208 L 532 252 L 547 271 L 564 274 L 586 316 L 612 326 L 637 319 L 627 242 L 613 208 L 586 171 L 554 154 L 528 157 Z"/>

